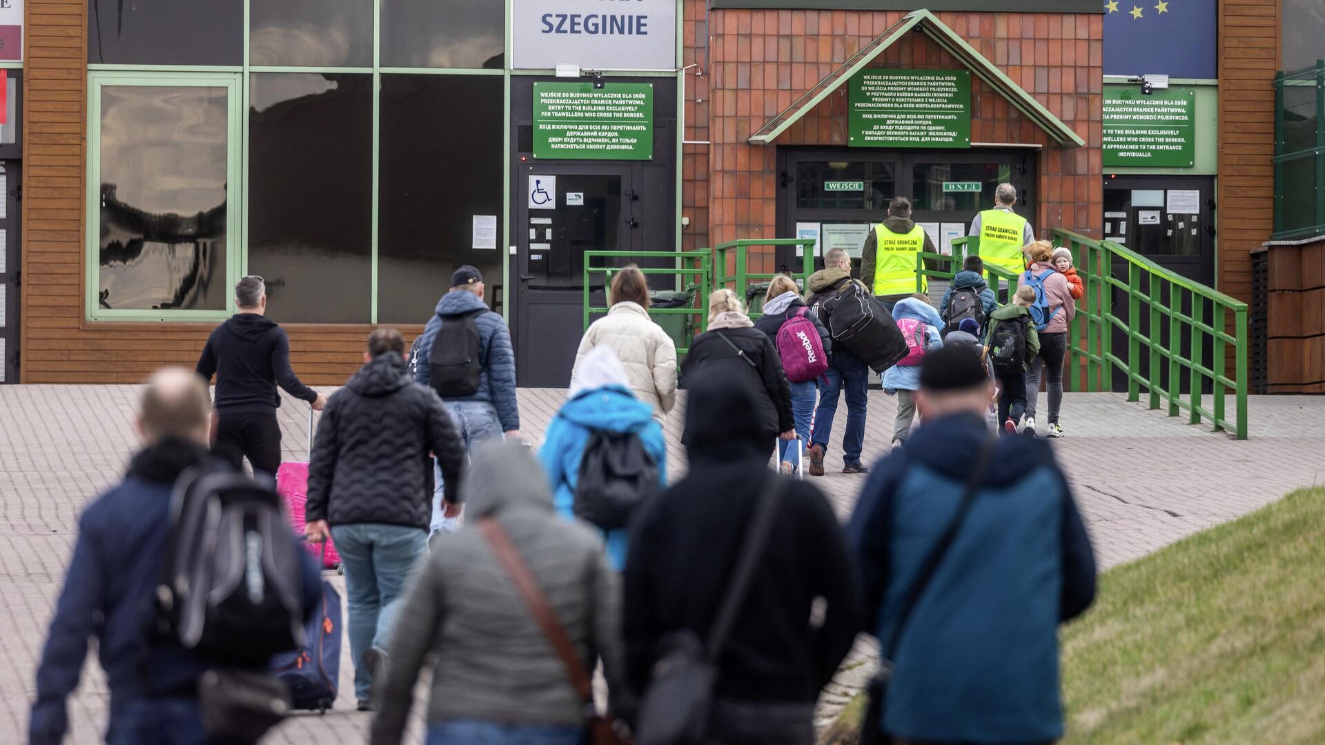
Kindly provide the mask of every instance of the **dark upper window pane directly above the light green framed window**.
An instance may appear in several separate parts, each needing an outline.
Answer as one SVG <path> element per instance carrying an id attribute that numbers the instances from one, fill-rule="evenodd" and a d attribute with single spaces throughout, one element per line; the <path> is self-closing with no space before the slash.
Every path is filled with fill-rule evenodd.
<path id="1" fill-rule="evenodd" d="M 242 0 L 87 0 L 87 61 L 242 65 Z"/>

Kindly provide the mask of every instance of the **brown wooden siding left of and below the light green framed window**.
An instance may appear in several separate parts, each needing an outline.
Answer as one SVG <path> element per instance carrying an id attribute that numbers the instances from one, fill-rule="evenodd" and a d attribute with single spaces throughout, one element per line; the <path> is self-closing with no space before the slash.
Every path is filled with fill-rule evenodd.
<path id="1" fill-rule="evenodd" d="M 136 383 L 192 367 L 211 323 L 83 321 L 87 3 L 28 0 L 24 65 L 23 383 Z M 341 384 L 362 362 L 367 325 L 290 325 L 306 383 Z M 401 326 L 407 338 L 421 326 Z"/>

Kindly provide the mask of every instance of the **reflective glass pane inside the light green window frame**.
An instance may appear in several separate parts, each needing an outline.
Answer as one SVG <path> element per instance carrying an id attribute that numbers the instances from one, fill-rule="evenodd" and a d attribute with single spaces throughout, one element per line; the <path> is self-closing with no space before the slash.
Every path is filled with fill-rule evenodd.
<path id="1" fill-rule="evenodd" d="M 224 310 L 227 89 L 101 89 L 102 309 Z"/>

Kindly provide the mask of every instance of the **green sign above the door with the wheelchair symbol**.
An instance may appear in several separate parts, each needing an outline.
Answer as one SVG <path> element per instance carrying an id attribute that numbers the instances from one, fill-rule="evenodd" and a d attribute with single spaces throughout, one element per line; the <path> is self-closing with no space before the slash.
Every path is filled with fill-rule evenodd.
<path id="1" fill-rule="evenodd" d="M 653 86 L 610 82 L 594 87 L 591 82 L 535 82 L 534 158 L 653 158 Z"/>

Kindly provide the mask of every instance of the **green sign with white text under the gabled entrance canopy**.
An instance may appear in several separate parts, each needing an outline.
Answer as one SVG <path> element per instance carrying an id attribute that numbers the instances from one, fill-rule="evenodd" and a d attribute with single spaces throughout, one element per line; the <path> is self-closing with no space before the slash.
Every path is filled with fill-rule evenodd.
<path id="1" fill-rule="evenodd" d="M 851 78 L 852 147 L 970 147 L 970 70 L 861 70 Z"/>

